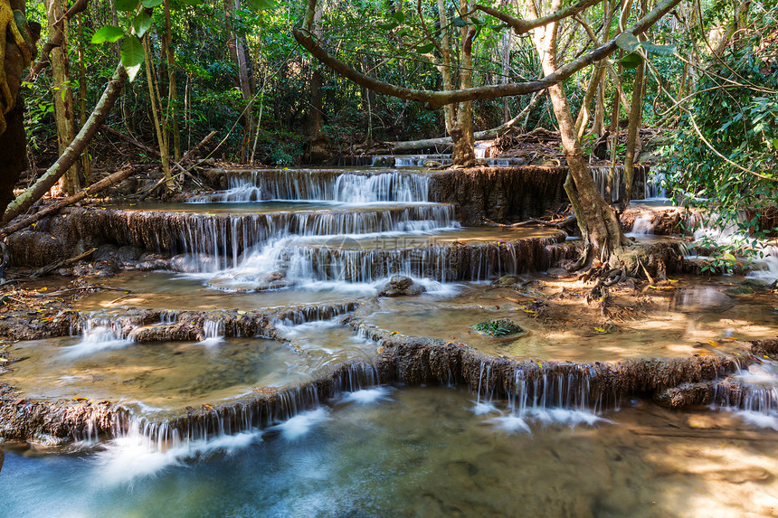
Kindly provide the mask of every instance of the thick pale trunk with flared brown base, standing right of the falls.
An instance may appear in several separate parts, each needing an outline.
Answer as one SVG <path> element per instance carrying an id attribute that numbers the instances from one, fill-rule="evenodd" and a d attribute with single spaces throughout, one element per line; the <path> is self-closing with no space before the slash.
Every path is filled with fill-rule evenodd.
<path id="1" fill-rule="evenodd" d="M 562 0 L 553 0 L 552 10 L 558 10 L 561 4 Z M 532 6 L 530 9 L 532 10 Z M 537 14 L 535 15 L 537 17 Z M 557 23 L 548 24 L 546 27 L 536 29 L 534 34 L 537 51 L 541 56 L 543 71 L 546 74 L 556 70 L 557 26 Z M 581 142 L 575 133 L 575 122 L 565 89 L 561 84 L 555 84 L 549 87 L 548 93 L 559 124 L 567 166 L 577 191 L 575 196 L 577 200 L 574 201 L 573 206 L 579 224 L 585 227 L 584 246 L 605 261 L 610 257 L 612 250 L 621 245 L 623 234 L 619 219 L 612 207 L 602 198 L 597 185 L 594 184 L 592 174 L 589 173 L 589 166 L 581 151 Z"/>

